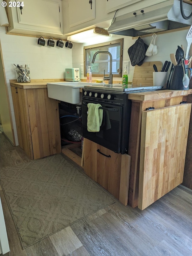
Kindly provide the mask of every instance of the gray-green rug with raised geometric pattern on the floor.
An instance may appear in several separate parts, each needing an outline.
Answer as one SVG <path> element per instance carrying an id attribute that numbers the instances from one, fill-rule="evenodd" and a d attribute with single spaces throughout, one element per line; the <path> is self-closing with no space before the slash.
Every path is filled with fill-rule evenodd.
<path id="1" fill-rule="evenodd" d="M 114 202 L 60 154 L 5 167 L 0 174 L 23 248 Z"/>

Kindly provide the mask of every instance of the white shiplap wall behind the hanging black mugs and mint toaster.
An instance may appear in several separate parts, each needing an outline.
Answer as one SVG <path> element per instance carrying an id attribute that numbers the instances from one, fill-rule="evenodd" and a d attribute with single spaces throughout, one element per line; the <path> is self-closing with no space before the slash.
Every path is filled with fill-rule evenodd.
<path id="1" fill-rule="evenodd" d="M 65 68 L 72 67 L 72 50 L 56 47 L 56 40 L 55 47 L 47 46 L 47 40 L 45 46 L 39 46 L 38 38 L 7 35 L 5 27 L 0 27 L 0 42 L 16 145 L 18 138 L 9 83 L 10 79 L 16 79 L 13 63 L 29 63 L 31 79 L 65 78 Z"/>

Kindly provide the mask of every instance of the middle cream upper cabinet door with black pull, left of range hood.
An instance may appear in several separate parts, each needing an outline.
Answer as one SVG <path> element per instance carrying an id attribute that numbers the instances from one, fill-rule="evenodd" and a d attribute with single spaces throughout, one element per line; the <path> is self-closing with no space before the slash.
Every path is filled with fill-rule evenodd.
<path id="1" fill-rule="evenodd" d="M 95 0 L 69 0 L 69 27 L 95 19 Z"/>

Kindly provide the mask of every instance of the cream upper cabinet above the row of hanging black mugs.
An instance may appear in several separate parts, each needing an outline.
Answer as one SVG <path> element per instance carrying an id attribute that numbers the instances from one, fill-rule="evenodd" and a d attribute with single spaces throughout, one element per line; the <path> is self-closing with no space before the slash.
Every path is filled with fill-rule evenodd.
<path id="1" fill-rule="evenodd" d="M 8 7 L 8 32 L 59 36 L 63 34 L 61 0 L 25 0 L 19 7 Z"/>

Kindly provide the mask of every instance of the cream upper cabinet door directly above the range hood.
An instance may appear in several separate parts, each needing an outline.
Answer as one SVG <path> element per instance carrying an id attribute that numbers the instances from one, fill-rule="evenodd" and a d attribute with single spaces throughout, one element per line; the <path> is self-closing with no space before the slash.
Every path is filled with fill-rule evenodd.
<path id="1" fill-rule="evenodd" d="M 142 0 L 106 0 L 106 12 L 116 11 L 128 5 L 141 2 Z"/>

